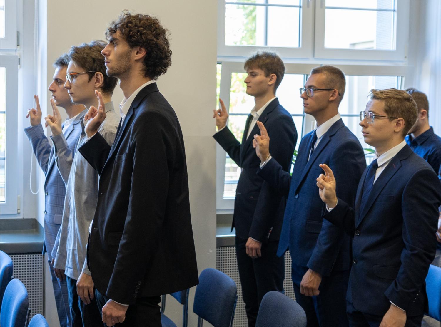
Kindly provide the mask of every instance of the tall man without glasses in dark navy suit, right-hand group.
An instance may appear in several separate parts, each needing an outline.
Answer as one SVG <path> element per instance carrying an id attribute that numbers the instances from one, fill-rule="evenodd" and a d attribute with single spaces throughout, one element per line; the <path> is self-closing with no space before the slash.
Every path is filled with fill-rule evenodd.
<path id="1" fill-rule="evenodd" d="M 247 59 L 245 84 L 255 106 L 248 115 L 242 143 L 228 129 L 228 113 L 222 100 L 221 109 L 214 110 L 217 133 L 215 140 L 241 167 L 234 202 L 233 227 L 236 230 L 236 257 L 242 285 L 248 326 L 256 323 L 262 297 L 269 291 L 283 291 L 284 258 L 276 256 L 285 208 L 284 198 L 256 175 L 260 160 L 251 146 L 258 133 L 257 121 L 265 124 L 274 139 L 271 153 L 287 172 L 297 141 L 292 116 L 276 97 L 285 72 L 283 61 L 273 52 L 258 52 Z M 264 160 L 262 160 L 264 161 Z"/>

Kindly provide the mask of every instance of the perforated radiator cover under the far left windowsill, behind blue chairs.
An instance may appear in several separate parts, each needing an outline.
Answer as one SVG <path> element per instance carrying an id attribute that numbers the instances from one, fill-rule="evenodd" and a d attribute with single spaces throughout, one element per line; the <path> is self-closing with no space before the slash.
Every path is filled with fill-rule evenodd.
<path id="1" fill-rule="evenodd" d="M 26 286 L 29 295 L 30 317 L 43 314 L 43 255 L 17 253 L 9 255 L 14 264 L 13 276 Z"/>

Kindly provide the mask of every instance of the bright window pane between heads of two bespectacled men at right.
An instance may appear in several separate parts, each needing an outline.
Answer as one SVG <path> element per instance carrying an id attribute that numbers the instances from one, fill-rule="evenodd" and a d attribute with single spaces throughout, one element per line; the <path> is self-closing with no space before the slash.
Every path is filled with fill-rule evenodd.
<path id="1" fill-rule="evenodd" d="M 369 91 L 371 89 L 397 88 L 399 85 L 397 76 L 346 76 L 346 90 L 341 100 L 340 114 L 358 115 L 366 108 Z M 354 132 L 354 131 L 352 131 Z"/>

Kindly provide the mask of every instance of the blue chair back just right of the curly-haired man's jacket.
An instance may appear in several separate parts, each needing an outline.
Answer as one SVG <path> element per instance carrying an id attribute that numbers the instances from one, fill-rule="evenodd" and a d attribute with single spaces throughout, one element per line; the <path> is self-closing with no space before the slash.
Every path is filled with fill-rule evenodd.
<path id="1" fill-rule="evenodd" d="M 198 327 L 202 327 L 203 320 L 214 327 L 231 327 L 236 303 L 237 287 L 230 277 L 213 268 L 201 272 L 193 303 Z"/>

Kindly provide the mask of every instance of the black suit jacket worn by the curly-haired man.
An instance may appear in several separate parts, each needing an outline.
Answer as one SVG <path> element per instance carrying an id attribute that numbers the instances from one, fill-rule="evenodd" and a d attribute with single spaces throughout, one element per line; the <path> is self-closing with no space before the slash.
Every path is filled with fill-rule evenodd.
<path id="1" fill-rule="evenodd" d="M 79 151 L 100 174 L 88 245 L 97 290 L 133 304 L 196 285 L 183 136 L 156 83 L 135 97 L 112 148 L 96 134 Z"/>

